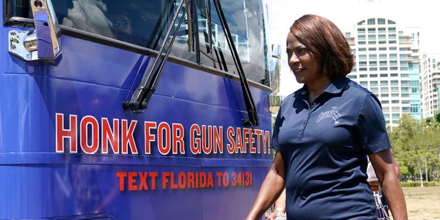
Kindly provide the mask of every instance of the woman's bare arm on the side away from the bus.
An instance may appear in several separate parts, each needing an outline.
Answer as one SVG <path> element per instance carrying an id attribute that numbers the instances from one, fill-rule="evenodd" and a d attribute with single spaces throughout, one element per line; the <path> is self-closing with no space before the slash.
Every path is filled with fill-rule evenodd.
<path id="1" fill-rule="evenodd" d="M 406 201 L 404 191 L 399 184 L 397 175 L 397 164 L 393 158 L 391 149 L 380 151 L 369 155 L 371 164 L 382 186 L 382 192 L 385 195 L 386 201 L 390 206 L 393 219 L 407 220 L 408 213 L 406 211 Z"/>

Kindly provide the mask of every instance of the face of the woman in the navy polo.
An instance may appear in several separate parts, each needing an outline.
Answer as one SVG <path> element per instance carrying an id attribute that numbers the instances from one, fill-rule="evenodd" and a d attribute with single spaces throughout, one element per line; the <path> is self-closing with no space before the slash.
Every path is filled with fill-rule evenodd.
<path id="1" fill-rule="evenodd" d="M 305 45 L 300 43 L 294 34 L 287 35 L 287 58 L 290 69 L 298 83 L 313 84 L 320 77 L 319 65 Z"/>

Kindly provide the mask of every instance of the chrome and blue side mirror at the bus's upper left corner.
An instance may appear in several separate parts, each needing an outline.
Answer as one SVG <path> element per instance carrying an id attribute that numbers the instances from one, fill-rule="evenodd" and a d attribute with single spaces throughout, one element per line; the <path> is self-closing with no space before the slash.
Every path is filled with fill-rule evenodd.
<path id="1" fill-rule="evenodd" d="M 11 30 L 8 50 L 25 61 L 54 61 L 61 54 L 56 33 L 60 28 L 50 0 L 31 0 L 35 30 Z"/>

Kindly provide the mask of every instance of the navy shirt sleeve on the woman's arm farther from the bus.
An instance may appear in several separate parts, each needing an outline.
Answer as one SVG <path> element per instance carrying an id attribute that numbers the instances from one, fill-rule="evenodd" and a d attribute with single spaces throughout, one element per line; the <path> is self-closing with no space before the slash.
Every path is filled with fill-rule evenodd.
<path id="1" fill-rule="evenodd" d="M 391 148 L 380 101 L 372 93 L 365 96 L 360 106 L 356 128 L 360 144 L 366 153 L 377 153 Z"/>

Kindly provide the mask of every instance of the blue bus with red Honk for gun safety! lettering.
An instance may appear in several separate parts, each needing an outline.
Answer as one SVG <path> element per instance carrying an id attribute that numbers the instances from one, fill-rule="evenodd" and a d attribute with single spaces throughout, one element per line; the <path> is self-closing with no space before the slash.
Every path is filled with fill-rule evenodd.
<path id="1" fill-rule="evenodd" d="M 0 8 L 0 219 L 245 217 L 279 104 L 263 1 Z"/>

